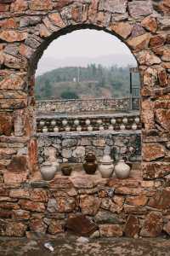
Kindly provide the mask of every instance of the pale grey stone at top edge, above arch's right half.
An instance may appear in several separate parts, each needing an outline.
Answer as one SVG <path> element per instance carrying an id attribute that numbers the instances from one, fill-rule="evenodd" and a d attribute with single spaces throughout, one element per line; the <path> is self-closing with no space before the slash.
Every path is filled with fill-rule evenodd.
<path id="1" fill-rule="evenodd" d="M 111 13 L 124 14 L 127 9 L 127 0 L 102 0 L 99 3 L 99 10 L 110 11 Z"/>

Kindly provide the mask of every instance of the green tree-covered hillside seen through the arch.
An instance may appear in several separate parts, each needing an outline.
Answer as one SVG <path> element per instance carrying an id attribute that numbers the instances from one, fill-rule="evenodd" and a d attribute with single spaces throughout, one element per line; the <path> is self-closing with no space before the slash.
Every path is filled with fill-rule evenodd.
<path id="1" fill-rule="evenodd" d="M 129 67 L 62 67 L 38 76 L 35 93 L 37 100 L 123 97 L 129 95 L 129 80 Z M 139 84 L 138 74 L 133 84 Z"/>

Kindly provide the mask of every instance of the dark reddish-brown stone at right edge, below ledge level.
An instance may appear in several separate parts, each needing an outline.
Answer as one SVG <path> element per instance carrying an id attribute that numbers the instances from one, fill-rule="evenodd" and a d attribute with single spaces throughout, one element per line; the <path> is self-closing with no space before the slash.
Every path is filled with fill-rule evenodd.
<path id="1" fill-rule="evenodd" d="M 150 199 L 148 205 L 156 209 L 166 210 L 170 207 L 170 190 L 162 189 L 157 191 L 156 196 Z"/>

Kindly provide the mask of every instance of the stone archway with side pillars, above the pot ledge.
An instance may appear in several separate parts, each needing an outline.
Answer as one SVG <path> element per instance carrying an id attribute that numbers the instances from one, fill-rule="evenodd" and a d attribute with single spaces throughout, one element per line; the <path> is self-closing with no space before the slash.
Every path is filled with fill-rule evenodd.
<path id="1" fill-rule="evenodd" d="M 54 38 L 81 28 L 116 35 L 138 61 L 142 79 L 143 177 L 167 181 L 170 173 L 168 1 L 8 0 L 0 1 L 0 11 L 3 186 L 27 182 L 37 171 L 33 93 L 37 61 Z"/>

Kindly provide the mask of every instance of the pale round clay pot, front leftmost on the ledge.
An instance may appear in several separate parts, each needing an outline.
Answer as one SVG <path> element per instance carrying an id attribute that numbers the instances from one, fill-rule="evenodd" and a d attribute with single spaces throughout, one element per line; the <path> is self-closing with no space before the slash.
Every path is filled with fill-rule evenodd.
<path id="1" fill-rule="evenodd" d="M 56 166 L 53 166 L 50 163 L 44 163 L 41 166 L 40 172 L 44 180 L 47 180 L 47 181 L 52 180 L 56 173 Z"/>

